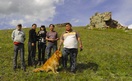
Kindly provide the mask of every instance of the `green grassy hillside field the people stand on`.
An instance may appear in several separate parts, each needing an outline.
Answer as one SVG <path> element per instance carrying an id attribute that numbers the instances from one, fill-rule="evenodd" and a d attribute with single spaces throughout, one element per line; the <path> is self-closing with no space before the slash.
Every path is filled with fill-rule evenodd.
<path id="1" fill-rule="evenodd" d="M 13 71 L 12 30 L 0 30 L 0 81 L 132 81 L 132 30 L 93 29 L 73 27 L 81 35 L 83 51 L 77 57 L 77 72 L 33 73 L 34 67 L 28 67 L 26 72 L 21 69 Z M 25 41 L 25 61 L 28 57 L 28 31 Z M 48 28 L 47 28 L 48 30 Z M 59 36 L 64 28 L 55 29 Z M 38 31 L 38 29 L 37 29 Z M 18 56 L 20 66 L 20 56 Z M 37 66 L 39 67 L 39 66 Z"/>

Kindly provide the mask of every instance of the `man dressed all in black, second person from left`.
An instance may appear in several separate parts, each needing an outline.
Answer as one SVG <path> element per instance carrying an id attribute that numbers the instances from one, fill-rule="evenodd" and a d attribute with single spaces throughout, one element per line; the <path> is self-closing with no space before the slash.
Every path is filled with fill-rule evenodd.
<path id="1" fill-rule="evenodd" d="M 36 34 L 36 24 L 32 25 L 32 29 L 29 31 L 29 40 L 28 40 L 28 66 L 36 67 L 36 42 L 37 42 L 37 34 Z"/>

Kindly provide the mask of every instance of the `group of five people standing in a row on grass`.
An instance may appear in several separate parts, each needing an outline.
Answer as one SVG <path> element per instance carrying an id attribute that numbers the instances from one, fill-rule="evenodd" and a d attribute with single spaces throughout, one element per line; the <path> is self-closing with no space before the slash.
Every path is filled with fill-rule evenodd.
<path id="1" fill-rule="evenodd" d="M 40 27 L 38 33 L 36 32 L 37 24 L 32 24 L 32 28 L 29 31 L 28 39 L 28 66 L 36 67 L 43 64 L 51 56 L 51 52 L 62 49 L 62 67 L 67 69 L 68 55 L 70 55 L 70 71 L 76 72 L 76 62 L 78 54 L 78 43 L 79 48 L 82 50 L 82 42 L 80 35 L 72 30 L 72 25 L 67 23 L 65 26 L 65 32 L 58 37 L 58 33 L 54 30 L 55 25 L 50 24 L 50 31 L 46 31 L 44 25 Z M 12 40 L 14 43 L 14 58 L 13 58 L 13 69 L 17 69 L 17 56 L 20 51 L 21 57 L 21 68 L 26 71 L 25 60 L 24 60 L 24 41 L 26 39 L 25 33 L 22 30 L 22 25 L 18 24 L 17 28 L 12 32 Z M 57 41 L 60 39 L 59 46 L 57 47 Z M 38 43 L 37 43 L 38 42 Z M 38 45 L 38 61 L 36 62 L 36 45 Z M 47 56 L 47 57 L 46 57 Z"/>

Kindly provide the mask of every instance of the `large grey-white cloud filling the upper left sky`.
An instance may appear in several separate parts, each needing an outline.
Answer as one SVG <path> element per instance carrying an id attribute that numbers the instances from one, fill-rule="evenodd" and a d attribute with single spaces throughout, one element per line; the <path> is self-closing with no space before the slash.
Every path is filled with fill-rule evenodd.
<path id="1" fill-rule="evenodd" d="M 12 26 L 18 23 L 52 21 L 56 15 L 56 5 L 62 2 L 63 0 L 0 0 L 0 20 L 8 18 L 10 20 L 3 22 Z"/>

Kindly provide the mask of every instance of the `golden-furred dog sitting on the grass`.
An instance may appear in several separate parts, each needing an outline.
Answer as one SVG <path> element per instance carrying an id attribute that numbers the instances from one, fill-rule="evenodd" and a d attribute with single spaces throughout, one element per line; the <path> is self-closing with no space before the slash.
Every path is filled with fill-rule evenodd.
<path id="1" fill-rule="evenodd" d="M 62 53 L 59 50 L 55 51 L 55 53 L 42 65 L 42 67 L 34 69 L 33 72 L 52 71 L 55 74 L 59 73 L 57 69 L 61 57 Z"/>

